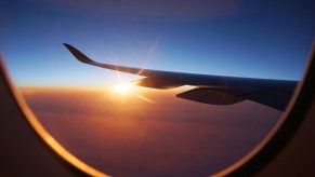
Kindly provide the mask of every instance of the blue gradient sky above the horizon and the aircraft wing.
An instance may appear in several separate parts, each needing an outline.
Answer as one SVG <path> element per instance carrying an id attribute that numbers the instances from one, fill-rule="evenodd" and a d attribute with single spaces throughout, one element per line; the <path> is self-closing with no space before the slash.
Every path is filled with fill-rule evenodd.
<path id="1" fill-rule="evenodd" d="M 1 1 L 0 51 L 22 86 L 117 82 L 75 60 L 63 42 L 109 64 L 299 80 L 314 22 L 312 0 Z"/>

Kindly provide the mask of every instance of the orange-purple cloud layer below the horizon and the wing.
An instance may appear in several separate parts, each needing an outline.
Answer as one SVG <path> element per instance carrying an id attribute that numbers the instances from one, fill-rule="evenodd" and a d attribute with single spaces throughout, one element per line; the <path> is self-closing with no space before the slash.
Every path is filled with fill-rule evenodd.
<path id="1" fill-rule="evenodd" d="M 246 101 L 210 106 L 180 90 L 140 90 L 157 104 L 106 90 L 22 90 L 44 127 L 71 153 L 114 176 L 207 176 L 255 147 L 280 112 Z"/>

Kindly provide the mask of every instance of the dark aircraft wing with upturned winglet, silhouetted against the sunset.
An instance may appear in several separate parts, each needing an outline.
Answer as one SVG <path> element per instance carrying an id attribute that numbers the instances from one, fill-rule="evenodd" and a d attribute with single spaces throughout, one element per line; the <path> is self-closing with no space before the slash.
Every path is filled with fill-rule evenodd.
<path id="1" fill-rule="evenodd" d="M 154 88 L 172 88 L 192 85 L 196 88 L 176 97 L 211 105 L 232 105 L 246 99 L 284 111 L 298 81 L 237 78 L 141 69 L 94 62 L 74 46 L 64 43 L 80 62 L 121 72 L 146 77 L 133 81 L 136 85 Z"/>

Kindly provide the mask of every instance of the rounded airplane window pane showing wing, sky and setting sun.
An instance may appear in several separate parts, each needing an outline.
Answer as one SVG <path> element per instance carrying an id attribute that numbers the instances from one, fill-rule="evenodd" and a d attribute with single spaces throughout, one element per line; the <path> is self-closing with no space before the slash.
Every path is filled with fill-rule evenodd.
<path id="1" fill-rule="evenodd" d="M 314 2 L 0 2 L 0 51 L 44 128 L 110 176 L 208 176 L 281 118 Z"/>

